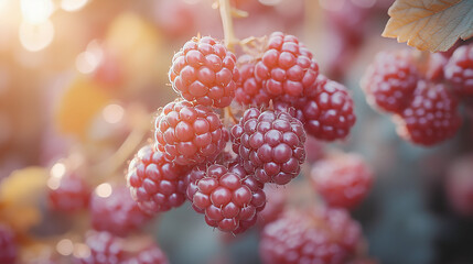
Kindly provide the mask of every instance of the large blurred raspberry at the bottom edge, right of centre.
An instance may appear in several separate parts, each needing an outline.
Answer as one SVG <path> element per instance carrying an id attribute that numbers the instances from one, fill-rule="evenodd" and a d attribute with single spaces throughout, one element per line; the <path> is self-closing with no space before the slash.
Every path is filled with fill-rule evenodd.
<path id="1" fill-rule="evenodd" d="M 345 264 L 359 246 L 359 224 L 342 209 L 288 211 L 265 227 L 262 263 Z"/>

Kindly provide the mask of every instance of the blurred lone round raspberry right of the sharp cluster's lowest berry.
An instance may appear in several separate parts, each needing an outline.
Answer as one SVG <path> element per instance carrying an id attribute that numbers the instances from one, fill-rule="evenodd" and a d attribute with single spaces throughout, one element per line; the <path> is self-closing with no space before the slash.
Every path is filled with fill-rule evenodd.
<path id="1" fill-rule="evenodd" d="M 311 179 L 330 207 L 353 209 L 368 194 L 373 172 L 362 156 L 338 154 L 316 162 Z"/>

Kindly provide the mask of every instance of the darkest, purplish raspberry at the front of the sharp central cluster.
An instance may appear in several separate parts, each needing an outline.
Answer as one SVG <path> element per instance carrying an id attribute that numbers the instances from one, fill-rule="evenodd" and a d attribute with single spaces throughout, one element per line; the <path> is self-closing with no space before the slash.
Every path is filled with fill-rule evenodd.
<path id="1" fill-rule="evenodd" d="M 261 183 L 288 184 L 305 160 L 303 125 L 286 112 L 250 108 L 232 128 L 232 139 L 246 172 Z"/>

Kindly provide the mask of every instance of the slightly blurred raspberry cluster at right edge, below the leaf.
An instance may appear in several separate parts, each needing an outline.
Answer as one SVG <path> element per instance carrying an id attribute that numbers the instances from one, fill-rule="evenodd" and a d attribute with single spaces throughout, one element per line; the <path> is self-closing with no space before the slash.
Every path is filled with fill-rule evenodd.
<path id="1" fill-rule="evenodd" d="M 401 138 L 430 146 L 454 136 L 461 127 L 456 95 L 473 95 L 473 45 L 458 47 L 451 57 L 426 56 L 381 52 L 361 86 L 374 108 L 394 113 Z"/>

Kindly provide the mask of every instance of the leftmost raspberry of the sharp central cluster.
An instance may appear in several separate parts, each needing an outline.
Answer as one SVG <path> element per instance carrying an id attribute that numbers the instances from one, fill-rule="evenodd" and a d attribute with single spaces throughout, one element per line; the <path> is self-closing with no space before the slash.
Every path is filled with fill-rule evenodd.
<path id="1" fill-rule="evenodd" d="M 162 212 L 185 201 L 185 170 L 164 158 L 152 145 L 143 146 L 131 161 L 127 183 L 131 197 L 148 212 Z"/>

